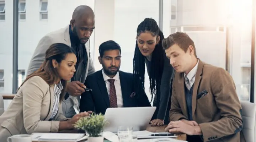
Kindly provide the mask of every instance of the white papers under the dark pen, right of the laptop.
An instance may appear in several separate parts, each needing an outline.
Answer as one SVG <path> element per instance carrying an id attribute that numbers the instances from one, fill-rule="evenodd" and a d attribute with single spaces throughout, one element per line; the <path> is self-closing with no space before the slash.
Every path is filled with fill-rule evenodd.
<path id="1" fill-rule="evenodd" d="M 159 134 L 159 133 L 158 132 L 153 133 L 153 132 L 149 132 L 149 131 L 145 130 L 145 131 L 134 131 L 133 135 L 136 135 L 138 137 L 138 139 L 141 139 L 141 138 L 176 138 L 177 137 L 177 135 L 174 135 L 174 136 L 151 136 L 152 134 Z"/>

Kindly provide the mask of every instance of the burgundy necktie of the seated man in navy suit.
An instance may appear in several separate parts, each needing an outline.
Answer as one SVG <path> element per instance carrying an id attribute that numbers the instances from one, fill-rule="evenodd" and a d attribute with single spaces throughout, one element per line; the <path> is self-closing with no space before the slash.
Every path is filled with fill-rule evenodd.
<path id="1" fill-rule="evenodd" d="M 114 79 L 108 79 L 108 82 L 110 82 L 110 108 L 117 108 L 117 96 L 114 81 Z"/>

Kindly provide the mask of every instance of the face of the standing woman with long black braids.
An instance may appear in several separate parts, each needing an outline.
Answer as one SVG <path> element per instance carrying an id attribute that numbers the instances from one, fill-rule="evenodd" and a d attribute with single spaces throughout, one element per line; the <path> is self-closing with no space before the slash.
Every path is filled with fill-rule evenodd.
<path id="1" fill-rule="evenodd" d="M 153 36 L 150 32 L 140 33 L 137 37 L 137 44 L 143 56 L 153 53 L 155 45 L 159 42 L 159 35 Z"/>

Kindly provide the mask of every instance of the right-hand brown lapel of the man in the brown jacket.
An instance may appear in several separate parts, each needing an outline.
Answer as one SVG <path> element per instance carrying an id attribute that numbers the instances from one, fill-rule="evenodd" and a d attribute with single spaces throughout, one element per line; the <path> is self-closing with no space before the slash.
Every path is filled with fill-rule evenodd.
<path id="1" fill-rule="evenodd" d="M 196 72 L 196 78 L 195 78 L 195 81 L 194 81 L 193 94 L 192 94 L 192 116 L 194 115 L 194 112 L 196 110 L 197 93 L 198 93 L 197 91 L 198 91 L 199 84 L 200 84 L 201 79 L 202 79 L 203 66 L 204 66 L 204 63 L 201 60 L 199 60 L 198 61 L 197 72 Z"/>

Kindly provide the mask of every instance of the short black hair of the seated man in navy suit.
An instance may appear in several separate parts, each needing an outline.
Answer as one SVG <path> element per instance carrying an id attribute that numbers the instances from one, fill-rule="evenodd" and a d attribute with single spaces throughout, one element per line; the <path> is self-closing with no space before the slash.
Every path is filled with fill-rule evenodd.
<path id="1" fill-rule="evenodd" d="M 121 47 L 119 46 L 118 43 L 114 42 L 113 40 L 108 40 L 106 42 L 103 42 L 100 47 L 99 47 L 99 52 L 100 52 L 100 57 L 103 57 L 103 54 L 105 51 L 108 50 L 116 50 L 118 49 L 121 54 Z"/>

